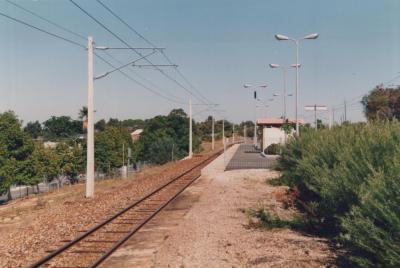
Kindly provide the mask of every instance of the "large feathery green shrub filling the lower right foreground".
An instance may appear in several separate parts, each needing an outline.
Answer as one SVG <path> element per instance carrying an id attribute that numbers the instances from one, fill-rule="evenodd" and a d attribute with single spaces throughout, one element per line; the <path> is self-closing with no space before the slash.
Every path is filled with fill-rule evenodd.
<path id="1" fill-rule="evenodd" d="M 313 227 L 342 241 L 356 264 L 400 265 L 400 124 L 304 131 L 278 165 Z"/>

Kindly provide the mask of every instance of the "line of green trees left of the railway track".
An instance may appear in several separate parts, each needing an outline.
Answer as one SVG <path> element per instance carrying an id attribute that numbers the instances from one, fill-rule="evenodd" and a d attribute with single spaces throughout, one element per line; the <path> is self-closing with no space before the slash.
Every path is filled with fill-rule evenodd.
<path id="1" fill-rule="evenodd" d="M 87 109 L 83 107 L 77 119 L 51 116 L 48 120 L 22 121 L 12 112 L 0 113 L 0 194 L 12 185 L 38 185 L 43 181 L 67 178 L 78 181 L 86 170 Z M 201 151 L 201 143 L 211 140 L 211 117 L 203 122 L 193 120 L 193 149 Z M 252 136 L 253 123 L 242 122 L 235 132 Z M 138 141 L 130 133 L 143 129 Z M 222 121 L 215 122 L 216 139 L 221 138 Z M 225 135 L 232 135 L 232 123 L 225 121 Z M 49 143 L 50 142 L 50 143 Z M 127 162 L 164 164 L 187 156 L 189 118 L 182 109 L 150 119 L 101 119 L 95 123 L 95 168 L 104 174 L 114 174 Z"/>

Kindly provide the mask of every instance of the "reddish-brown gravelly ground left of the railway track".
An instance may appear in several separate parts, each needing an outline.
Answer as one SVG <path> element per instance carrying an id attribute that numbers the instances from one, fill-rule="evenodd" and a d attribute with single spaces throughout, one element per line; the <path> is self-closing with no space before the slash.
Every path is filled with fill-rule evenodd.
<path id="1" fill-rule="evenodd" d="M 96 182 L 95 197 L 84 198 L 84 185 L 30 196 L 0 206 L 0 267 L 26 267 L 88 229 L 121 210 L 133 200 L 169 181 L 208 157 L 210 144 L 190 160 L 149 167 L 129 179 Z M 216 149 L 221 149 L 218 142 Z"/>

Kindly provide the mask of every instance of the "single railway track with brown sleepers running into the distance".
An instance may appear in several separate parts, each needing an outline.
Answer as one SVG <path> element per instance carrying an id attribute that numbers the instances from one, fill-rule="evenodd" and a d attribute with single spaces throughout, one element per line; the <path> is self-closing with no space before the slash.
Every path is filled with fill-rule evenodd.
<path id="1" fill-rule="evenodd" d="M 82 230 L 75 239 L 60 241 L 61 247 L 48 251 L 29 267 L 97 267 L 200 177 L 201 169 L 222 152 L 173 177 L 89 230 Z"/>

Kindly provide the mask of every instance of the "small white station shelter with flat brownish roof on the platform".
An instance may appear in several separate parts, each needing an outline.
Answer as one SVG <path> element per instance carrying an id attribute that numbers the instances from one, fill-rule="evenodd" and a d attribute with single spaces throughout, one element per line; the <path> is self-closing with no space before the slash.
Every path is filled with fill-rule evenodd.
<path id="1" fill-rule="evenodd" d="M 296 120 L 288 119 L 288 123 L 296 124 Z M 285 124 L 283 118 L 262 118 L 257 120 L 257 127 L 262 129 L 261 148 L 264 151 L 269 145 L 273 143 L 283 144 L 286 142 L 286 134 L 282 129 L 282 125 Z M 304 119 L 299 119 L 299 124 L 304 125 Z M 292 133 L 289 135 L 292 135 Z"/>

